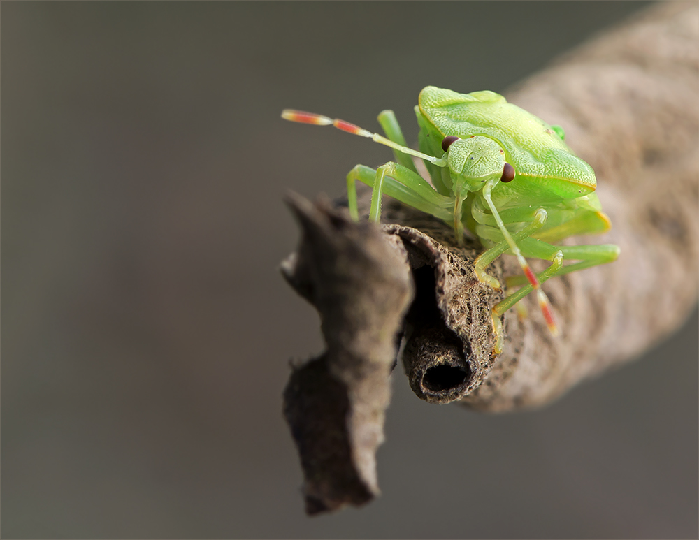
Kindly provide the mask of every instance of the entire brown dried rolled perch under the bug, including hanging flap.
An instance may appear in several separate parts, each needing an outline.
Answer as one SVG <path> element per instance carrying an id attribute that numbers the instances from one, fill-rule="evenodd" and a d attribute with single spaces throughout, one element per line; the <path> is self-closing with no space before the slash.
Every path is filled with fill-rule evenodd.
<path id="1" fill-rule="evenodd" d="M 383 216 L 392 223 L 383 230 L 385 238 L 394 238 L 392 247 L 383 255 L 358 256 L 364 248 L 352 242 L 363 242 L 361 235 L 375 238 L 377 229 L 352 224 L 343 210 L 323 206 L 311 210 L 310 205 L 294 203 L 305 240 L 298 255 L 285 263 L 284 274 L 319 308 L 328 342 L 323 358 L 294 372 L 285 395 L 287 418 L 301 451 L 307 502 L 312 499 L 309 511 L 361 504 L 377 492 L 373 454 L 368 454 L 382 438 L 388 391 L 387 382 L 380 379 L 387 377 L 394 359 L 408 306 L 405 298 L 410 298 L 403 283 L 410 277 L 416 290 L 415 302 L 405 316 L 403 363 L 412 389 L 431 402 L 460 400 L 487 411 L 550 402 L 579 381 L 632 360 L 684 321 L 696 305 L 699 289 L 698 45 L 697 4 L 662 3 L 506 94 L 509 101 L 550 124 L 564 126 L 566 142 L 596 171 L 598 194 L 612 219 L 612 232 L 567 242 L 621 247 L 619 260 L 612 264 L 545 284 L 561 328 L 558 338 L 549 335 L 535 302 L 526 299 L 526 318 L 518 318 L 514 310 L 505 314 L 505 348 L 494 357 L 489 310 L 500 293 L 484 287 L 473 275 L 473 258 L 480 247 L 453 247 L 452 231 L 438 220 L 387 200 Z M 313 221 L 308 216 L 314 212 L 321 212 L 327 224 L 335 224 L 325 226 L 326 231 L 334 228 L 352 242 L 331 240 L 323 233 L 319 245 L 307 246 L 313 235 L 305 221 Z M 402 244 L 395 242 L 398 238 Z M 370 242 L 381 245 L 378 240 Z M 308 261 L 326 257 L 323 250 L 331 245 L 349 249 L 349 258 L 333 255 L 347 265 L 368 261 L 385 268 L 386 261 L 402 253 L 401 262 L 388 273 L 403 284 L 396 298 L 403 298 L 405 304 L 394 302 L 393 312 L 380 305 L 377 300 L 384 301 L 383 289 L 366 274 L 352 284 L 342 282 L 352 291 L 338 293 L 342 301 L 335 297 L 331 302 L 319 301 L 323 296 L 319 291 L 326 286 L 322 280 L 335 277 L 310 272 L 308 268 L 317 263 Z M 390 244 L 384 240 L 383 245 Z M 340 270 L 343 276 L 347 273 L 345 263 L 326 268 Z M 360 268 L 369 276 L 376 272 Z M 498 279 L 521 273 L 511 257 L 498 259 L 489 272 Z M 378 279 L 384 286 L 384 277 Z M 368 303 L 360 304 L 355 316 L 354 308 L 345 309 L 343 302 Z M 384 318 L 382 332 L 376 332 L 379 319 Z M 371 343 L 376 350 L 353 344 L 351 336 L 365 333 L 371 340 L 360 343 Z M 329 363 L 330 357 L 340 361 Z M 312 372 L 308 386 L 298 382 L 301 370 Z M 369 372 L 370 384 L 365 384 L 363 375 L 356 375 Z M 319 374 L 324 379 L 317 379 Z M 331 390 L 338 384 L 344 385 L 343 391 Z M 329 456 L 324 446 L 328 437 L 344 437 L 341 456 Z M 370 444 L 360 451 L 353 446 L 359 440 L 370 440 Z M 364 492 L 338 495 L 344 485 L 338 478 L 359 479 Z"/>

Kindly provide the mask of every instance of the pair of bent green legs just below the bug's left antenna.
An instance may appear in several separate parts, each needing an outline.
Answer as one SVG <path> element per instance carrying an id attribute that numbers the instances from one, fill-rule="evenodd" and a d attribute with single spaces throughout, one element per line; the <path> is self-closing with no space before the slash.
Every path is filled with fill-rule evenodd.
<path id="1" fill-rule="evenodd" d="M 375 180 L 381 177 L 382 185 L 380 190 L 375 187 Z M 354 211 L 356 212 L 356 189 L 354 182 L 359 180 L 370 187 L 374 188 L 372 193 L 373 201 L 380 201 L 381 194 L 387 194 L 401 203 L 417 208 L 422 212 L 431 214 L 438 219 L 450 221 L 452 212 L 449 210 L 454 205 L 454 199 L 444 195 L 440 195 L 434 188 L 424 180 L 423 177 L 412 170 L 399 165 L 398 163 L 389 162 L 379 167 L 377 170 L 365 165 L 357 165 L 347 174 L 347 192 L 352 191 L 354 195 Z M 352 203 L 350 203 L 352 204 Z M 375 209 L 378 219 L 380 214 L 380 206 Z M 350 209 L 352 212 L 352 209 Z M 373 217 L 373 216 L 370 216 Z"/>

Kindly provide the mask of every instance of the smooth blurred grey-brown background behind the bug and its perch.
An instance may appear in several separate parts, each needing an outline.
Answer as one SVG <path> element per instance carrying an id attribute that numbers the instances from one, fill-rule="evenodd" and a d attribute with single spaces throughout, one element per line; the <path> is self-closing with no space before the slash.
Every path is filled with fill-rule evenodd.
<path id="1" fill-rule="evenodd" d="M 3 2 L 2 536 L 697 537 L 696 314 L 540 411 L 396 370 L 363 509 L 305 517 L 281 414 L 322 349 L 284 191 L 391 156 L 282 108 L 415 143 L 422 87 L 503 91 L 645 6 Z"/>

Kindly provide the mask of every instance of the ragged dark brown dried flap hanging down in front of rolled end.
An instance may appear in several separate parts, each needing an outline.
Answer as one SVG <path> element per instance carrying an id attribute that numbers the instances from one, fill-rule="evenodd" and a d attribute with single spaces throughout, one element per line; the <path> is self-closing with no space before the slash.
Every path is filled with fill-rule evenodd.
<path id="1" fill-rule="evenodd" d="M 294 367 L 284 415 L 301 455 L 309 514 L 363 504 L 378 493 L 389 374 L 412 300 L 401 242 L 322 201 L 289 196 L 303 230 L 282 263 L 289 284 L 322 316 L 327 351 Z"/>

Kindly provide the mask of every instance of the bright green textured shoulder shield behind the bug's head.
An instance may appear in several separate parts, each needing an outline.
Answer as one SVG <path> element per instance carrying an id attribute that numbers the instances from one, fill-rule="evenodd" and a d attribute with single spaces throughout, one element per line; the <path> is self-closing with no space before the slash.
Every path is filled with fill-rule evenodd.
<path id="1" fill-rule="evenodd" d="M 428 86 L 420 92 L 418 103 L 428 122 L 425 127 L 433 133 L 428 144 L 434 155 L 442 154 L 441 140 L 449 135 L 482 135 L 500 143 L 519 180 L 503 189 L 561 200 L 584 196 L 596 187 L 592 168 L 572 153 L 549 124 L 507 103 L 500 94 L 487 90 L 459 94 Z"/>

